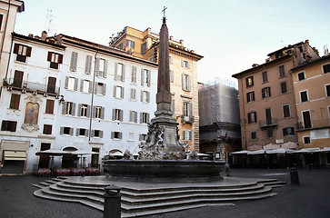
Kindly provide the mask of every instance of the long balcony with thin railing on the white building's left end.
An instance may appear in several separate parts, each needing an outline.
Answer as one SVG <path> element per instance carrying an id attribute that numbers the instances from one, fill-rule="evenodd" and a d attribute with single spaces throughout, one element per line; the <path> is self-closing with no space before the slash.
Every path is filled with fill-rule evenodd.
<path id="1" fill-rule="evenodd" d="M 30 81 L 15 81 L 13 78 L 4 79 L 4 86 L 9 90 L 22 90 L 23 93 L 59 95 L 60 88 L 53 85 L 33 83 Z"/>

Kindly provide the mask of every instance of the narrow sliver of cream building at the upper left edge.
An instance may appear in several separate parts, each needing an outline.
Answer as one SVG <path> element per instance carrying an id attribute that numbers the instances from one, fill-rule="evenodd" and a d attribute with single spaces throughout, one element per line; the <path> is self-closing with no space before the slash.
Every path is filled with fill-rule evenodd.
<path id="1" fill-rule="evenodd" d="M 12 46 L 12 33 L 14 32 L 17 12 L 24 12 L 23 1 L 0 1 L 0 79 L 3 81 L 7 71 Z M 19 51 L 26 54 L 27 51 Z"/>

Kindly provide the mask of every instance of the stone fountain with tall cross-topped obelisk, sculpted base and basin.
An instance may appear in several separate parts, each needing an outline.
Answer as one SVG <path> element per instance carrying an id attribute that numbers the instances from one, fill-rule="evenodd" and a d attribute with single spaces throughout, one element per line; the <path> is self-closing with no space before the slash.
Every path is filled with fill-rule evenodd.
<path id="1" fill-rule="evenodd" d="M 171 112 L 169 43 L 166 18 L 160 31 L 158 82 L 155 118 L 148 124 L 147 139 L 139 146 L 137 160 L 129 152 L 121 160 L 105 160 L 103 165 L 113 180 L 135 182 L 206 182 L 223 179 L 225 162 L 196 160 L 186 153 L 178 134 L 178 123 Z"/>

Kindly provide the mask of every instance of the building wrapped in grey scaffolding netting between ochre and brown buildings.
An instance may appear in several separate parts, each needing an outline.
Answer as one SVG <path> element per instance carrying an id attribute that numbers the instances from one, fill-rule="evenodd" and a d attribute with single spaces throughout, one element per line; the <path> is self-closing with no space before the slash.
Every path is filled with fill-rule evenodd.
<path id="1" fill-rule="evenodd" d="M 198 89 L 200 151 L 230 162 L 229 153 L 241 150 L 238 90 L 229 84 L 200 84 Z"/>

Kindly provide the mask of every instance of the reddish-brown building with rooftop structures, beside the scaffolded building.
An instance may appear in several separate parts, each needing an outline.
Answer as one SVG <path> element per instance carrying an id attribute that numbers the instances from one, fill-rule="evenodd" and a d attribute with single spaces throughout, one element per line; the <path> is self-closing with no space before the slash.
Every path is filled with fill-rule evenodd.
<path id="1" fill-rule="evenodd" d="M 290 69 L 319 57 L 308 41 L 288 45 L 268 56 L 265 64 L 254 64 L 233 75 L 238 79 L 243 150 L 297 142 L 298 116 Z"/>

